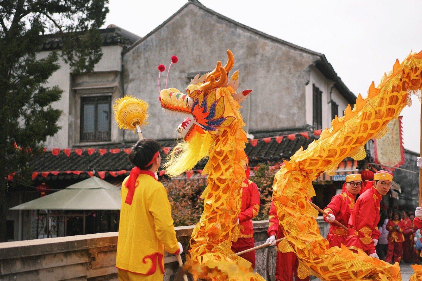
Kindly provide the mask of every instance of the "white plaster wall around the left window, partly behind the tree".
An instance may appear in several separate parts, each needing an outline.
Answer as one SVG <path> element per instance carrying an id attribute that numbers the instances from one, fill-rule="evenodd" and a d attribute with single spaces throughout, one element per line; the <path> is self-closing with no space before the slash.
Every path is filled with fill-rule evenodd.
<path id="1" fill-rule="evenodd" d="M 122 69 L 122 46 L 113 45 L 113 46 L 103 46 L 101 48 L 103 52 L 103 57 L 100 62 L 98 62 L 94 71 L 121 71 Z M 49 51 L 40 52 L 37 58 L 41 59 L 46 57 L 49 54 Z M 60 52 L 59 52 L 60 54 Z M 58 148 L 67 148 L 69 144 L 69 124 L 73 124 L 74 116 L 69 115 L 69 107 L 73 106 L 69 104 L 70 93 L 73 93 L 71 90 L 71 73 L 69 64 L 66 64 L 62 58 L 59 59 L 60 69 L 54 72 L 48 80 L 46 86 L 59 86 L 62 90 L 62 97 L 60 101 L 54 102 L 51 106 L 55 109 L 62 110 L 62 115 L 60 116 L 57 124 L 62 128 L 55 134 L 53 137 L 47 138 L 45 143 L 46 147 L 58 147 Z M 113 103 L 114 101 L 112 101 Z"/>

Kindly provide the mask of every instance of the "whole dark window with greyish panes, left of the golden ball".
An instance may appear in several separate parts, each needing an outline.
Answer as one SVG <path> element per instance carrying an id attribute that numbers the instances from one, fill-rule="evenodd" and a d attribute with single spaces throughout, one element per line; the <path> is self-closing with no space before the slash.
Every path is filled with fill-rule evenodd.
<path id="1" fill-rule="evenodd" d="M 81 141 L 110 140 L 110 97 L 81 98 Z"/>

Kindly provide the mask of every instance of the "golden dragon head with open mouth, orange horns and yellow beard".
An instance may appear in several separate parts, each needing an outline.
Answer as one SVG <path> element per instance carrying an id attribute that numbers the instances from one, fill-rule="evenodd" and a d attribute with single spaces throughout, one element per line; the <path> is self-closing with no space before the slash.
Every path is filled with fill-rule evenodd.
<path id="1" fill-rule="evenodd" d="M 239 71 L 236 70 L 231 78 L 228 78 L 228 72 L 233 64 L 234 56 L 230 50 L 227 50 L 227 64 L 223 67 L 218 61 L 212 72 L 202 76 L 196 75 L 187 87 L 186 94 L 176 88 L 160 91 L 160 103 L 163 110 L 169 116 L 178 115 L 185 118 L 178 128 L 183 140 L 173 152 L 183 154 L 187 152 L 189 145 L 202 147 L 197 147 L 197 150 L 203 153 L 193 153 L 196 155 L 195 159 L 188 161 L 190 164 L 184 167 L 190 167 L 192 163 L 195 166 L 200 159 L 206 157 L 204 153 L 206 154 L 214 137 L 230 131 L 230 128 L 236 126 L 239 121 L 241 126 L 244 126 L 239 104 L 252 90 L 236 92 Z M 192 152 L 193 150 L 190 151 Z M 170 155 L 170 160 L 165 165 L 167 168 L 173 163 L 173 156 L 173 154 Z M 178 155 L 177 158 L 181 160 L 183 157 Z M 184 161 L 187 162 L 187 159 Z"/>

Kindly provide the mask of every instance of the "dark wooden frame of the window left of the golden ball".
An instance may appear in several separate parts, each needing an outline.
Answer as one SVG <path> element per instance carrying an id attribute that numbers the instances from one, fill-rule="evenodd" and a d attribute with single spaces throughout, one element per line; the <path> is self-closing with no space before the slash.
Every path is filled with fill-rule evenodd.
<path id="1" fill-rule="evenodd" d="M 80 142 L 108 142 L 111 140 L 111 96 L 82 96 L 81 97 L 81 122 L 80 122 Z M 98 130 L 98 104 L 108 102 L 108 136 L 99 137 Z M 84 137 L 84 104 L 95 104 L 94 107 L 94 138 Z"/>

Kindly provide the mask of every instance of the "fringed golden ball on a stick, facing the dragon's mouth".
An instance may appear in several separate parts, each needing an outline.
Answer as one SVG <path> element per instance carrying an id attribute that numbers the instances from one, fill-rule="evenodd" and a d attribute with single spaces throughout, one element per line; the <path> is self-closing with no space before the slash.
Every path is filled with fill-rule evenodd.
<path id="1" fill-rule="evenodd" d="M 143 139 L 141 128 L 148 124 L 148 104 L 133 96 L 117 99 L 113 105 L 114 118 L 121 129 L 137 130 L 139 139 Z"/>

